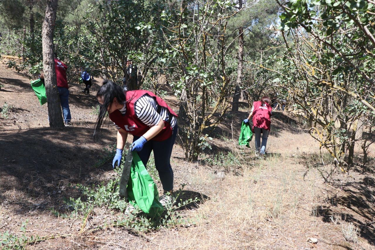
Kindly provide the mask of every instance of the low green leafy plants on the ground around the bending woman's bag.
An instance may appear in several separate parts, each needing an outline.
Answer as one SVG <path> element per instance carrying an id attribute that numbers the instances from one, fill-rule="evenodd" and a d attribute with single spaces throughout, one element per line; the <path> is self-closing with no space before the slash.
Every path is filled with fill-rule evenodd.
<path id="1" fill-rule="evenodd" d="M 152 163 L 152 162 L 151 162 Z M 152 165 L 152 164 L 151 164 Z M 178 197 L 183 194 L 183 187 L 175 192 L 177 194 L 176 204 L 167 205 L 161 217 L 151 218 L 148 215 L 142 213 L 138 208 L 136 208 L 131 214 L 125 215 L 129 203 L 124 201 L 119 197 L 119 182 L 121 178 L 122 168 L 115 169 L 115 175 L 113 179 L 110 179 L 107 183 L 102 182 L 99 185 L 93 185 L 91 187 L 84 186 L 82 184 L 77 184 L 76 187 L 80 190 L 82 196 L 78 198 L 70 197 L 65 199 L 66 209 L 70 211 L 71 214 L 62 214 L 58 211 L 52 209 L 52 213 L 60 217 L 80 217 L 83 216 L 83 220 L 87 221 L 90 213 L 92 211 L 97 211 L 98 209 L 103 212 L 118 212 L 110 221 L 103 222 L 97 225 L 98 228 L 108 227 L 108 226 L 123 226 L 128 229 L 135 231 L 147 231 L 147 230 L 157 230 L 161 227 L 169 227 L 175 225 L 185 225 L 189 226 L 193 224 L 189 218 L 184 218 L 179 210 L 190 203 L 198 202 L 198 199 L 188 199 L 182 200 Z M 155 173 L 153 174 L 155 175 Z M 85 227 L 85 223 L 82 225 L 82 229 Z M 81 230 L 82 230 L 81 229 Z"/>

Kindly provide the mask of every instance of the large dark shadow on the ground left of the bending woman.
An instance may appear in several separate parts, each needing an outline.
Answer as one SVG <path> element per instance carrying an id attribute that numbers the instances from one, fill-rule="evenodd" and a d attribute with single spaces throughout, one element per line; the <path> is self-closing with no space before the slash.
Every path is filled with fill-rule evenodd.
<path id="1" fill-rule="evenodd" d="M 90 184 L 112 170 L 110 163 L 93 166 L 114 136 L 103 130 L 95 143 L 92 133 L 74 127 L 0 132 L 0 204 L 17 204 L 20 213 L 58 206 L 77 192 L 71 183 Z"/>

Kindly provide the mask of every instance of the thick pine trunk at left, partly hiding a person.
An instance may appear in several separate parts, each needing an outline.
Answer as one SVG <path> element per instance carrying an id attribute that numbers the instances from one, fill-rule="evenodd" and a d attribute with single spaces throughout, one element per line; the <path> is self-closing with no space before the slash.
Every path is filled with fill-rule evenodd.
<path id="1" fill-rule="evenodd" d="M 53 32 L 56 20 L 57 0 L 48 0 L 42 26 L 43 73 L 48 103 L 49 127 L 62 128 L 64 121 L 58 97 L 55 62 L 53 54 Z"/>

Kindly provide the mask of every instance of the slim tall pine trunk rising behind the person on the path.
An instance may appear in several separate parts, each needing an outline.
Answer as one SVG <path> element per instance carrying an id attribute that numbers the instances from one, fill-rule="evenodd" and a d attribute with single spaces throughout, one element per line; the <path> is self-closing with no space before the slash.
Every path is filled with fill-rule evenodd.
<path id="1" fill-rule="evenodd" d="M 239 8 L 242 9 L 242 0 L 239 0 Z M 239 41 L 238 41 L 238 65 L 237 65 L 237 80 L 236 89 L 233 95 L 232 111 L 238 111 L 239 99 L 241 94 L 242 83 L 242 68 L 243 68 L 243 27 L 239 27 Z"/>

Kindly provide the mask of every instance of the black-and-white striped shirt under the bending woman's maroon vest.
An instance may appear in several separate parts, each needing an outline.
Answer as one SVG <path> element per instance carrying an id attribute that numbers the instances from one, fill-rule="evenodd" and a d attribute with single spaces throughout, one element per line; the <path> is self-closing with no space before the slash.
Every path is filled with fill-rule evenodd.
<path id="1" fill-rule="evenodd" d="M 155 101 L 154 98 L 152 98 L 151 96 L 147 94 L 141 96 L 141 98 L 139 98 L 135 102 L 134 108 L 135 108 L 135 115 L 138 117 L 139 120 L 141 120 L 141 122 L 143 122 L 147 126 L 150 126 L 150 127 L 155 126 L 160 122 L 160 120 L 168 121 L 169 116 L 172 116 L 171 118 L 172 129 L 177 124 L 177 117 L 170 114 L 168 111 L 168 108 L 161 107 L 160 113 L 157 113 L 156 110 L 158 110 L 159 105 L 157 105 L 157 102 Z M 119 111 L 121 112 L 121 114 L 125 115 L 126 104 Z M 120 129 L 120 127 L 118 127 L 116 124 L 115 126 L 118 130 Z"/>

